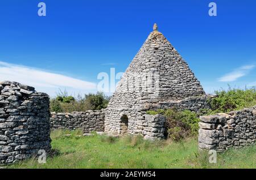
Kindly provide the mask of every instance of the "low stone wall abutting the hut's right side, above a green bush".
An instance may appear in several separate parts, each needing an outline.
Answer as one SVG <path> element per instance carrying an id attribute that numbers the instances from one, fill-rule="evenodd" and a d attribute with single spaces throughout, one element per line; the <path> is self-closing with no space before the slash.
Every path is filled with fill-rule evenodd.
<path id="1" fill-rule="evenodd" d="M 205 95 L 205 96 L 193 96 L 187 97 L 183 100 L 177 101 L 160 101 L 158 104 L 154 104 L 151 109 L 170 109 L 177 108 L 181 110 L 191 110 L 193 112 L 198 112 L 200 109 L 210 109 L 209 100 L 214 96 Z"/>

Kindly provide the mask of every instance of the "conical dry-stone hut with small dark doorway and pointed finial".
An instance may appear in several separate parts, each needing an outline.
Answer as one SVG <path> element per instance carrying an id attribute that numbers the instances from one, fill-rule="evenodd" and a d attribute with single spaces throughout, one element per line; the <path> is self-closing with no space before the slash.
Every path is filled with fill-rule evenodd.
<path id="1" fill-rule="evenodd" d="M 163 138 L 164 118 L 147 110 L 208 106 L 199 80 L 158 27 L 119 81 L 105 114 L 105 132 Z"/>

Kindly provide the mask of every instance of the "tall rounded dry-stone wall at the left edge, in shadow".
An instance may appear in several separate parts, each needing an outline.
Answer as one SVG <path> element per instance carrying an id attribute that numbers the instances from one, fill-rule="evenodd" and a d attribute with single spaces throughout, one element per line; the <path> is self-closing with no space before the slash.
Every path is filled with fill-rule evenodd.
<path id="1" fill-rule="evenodd" d="M 51 149 L 49 97 L 16 82 L 0 83 L 0 164 Z"/>

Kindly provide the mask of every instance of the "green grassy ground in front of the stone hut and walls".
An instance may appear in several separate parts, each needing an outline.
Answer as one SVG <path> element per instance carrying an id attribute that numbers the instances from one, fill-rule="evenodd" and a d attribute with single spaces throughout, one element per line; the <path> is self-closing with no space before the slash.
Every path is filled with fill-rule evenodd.
<path id="1" fill-rule="evenodd" d="M 196 138 L 174 143 L 140 136 L 77 135 L 81 132 L 53 131 L 56 154 L 46 164 L 31 158 L 7 168 L 256 168 L 256 146 L 230 149 L 218 154 L 217 164 L 209 164 L 209 155 L 197 152 Z"/>

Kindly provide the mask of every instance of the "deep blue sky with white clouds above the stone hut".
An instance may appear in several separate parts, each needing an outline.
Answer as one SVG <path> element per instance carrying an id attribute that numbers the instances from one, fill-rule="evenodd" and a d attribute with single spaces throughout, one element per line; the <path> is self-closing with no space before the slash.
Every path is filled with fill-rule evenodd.
<path id="1" fill-rule="evenodd" d="M 47 15 L 38 16 L 38 3 Z M 208 15 L 217 3 L 217 16 Z M 256 1 L 1 1 L 0 81 L 51 96 L 96 92 L 97 75 L 124 72 L 152 25 L 208 93 L 256 85 Z"/>

